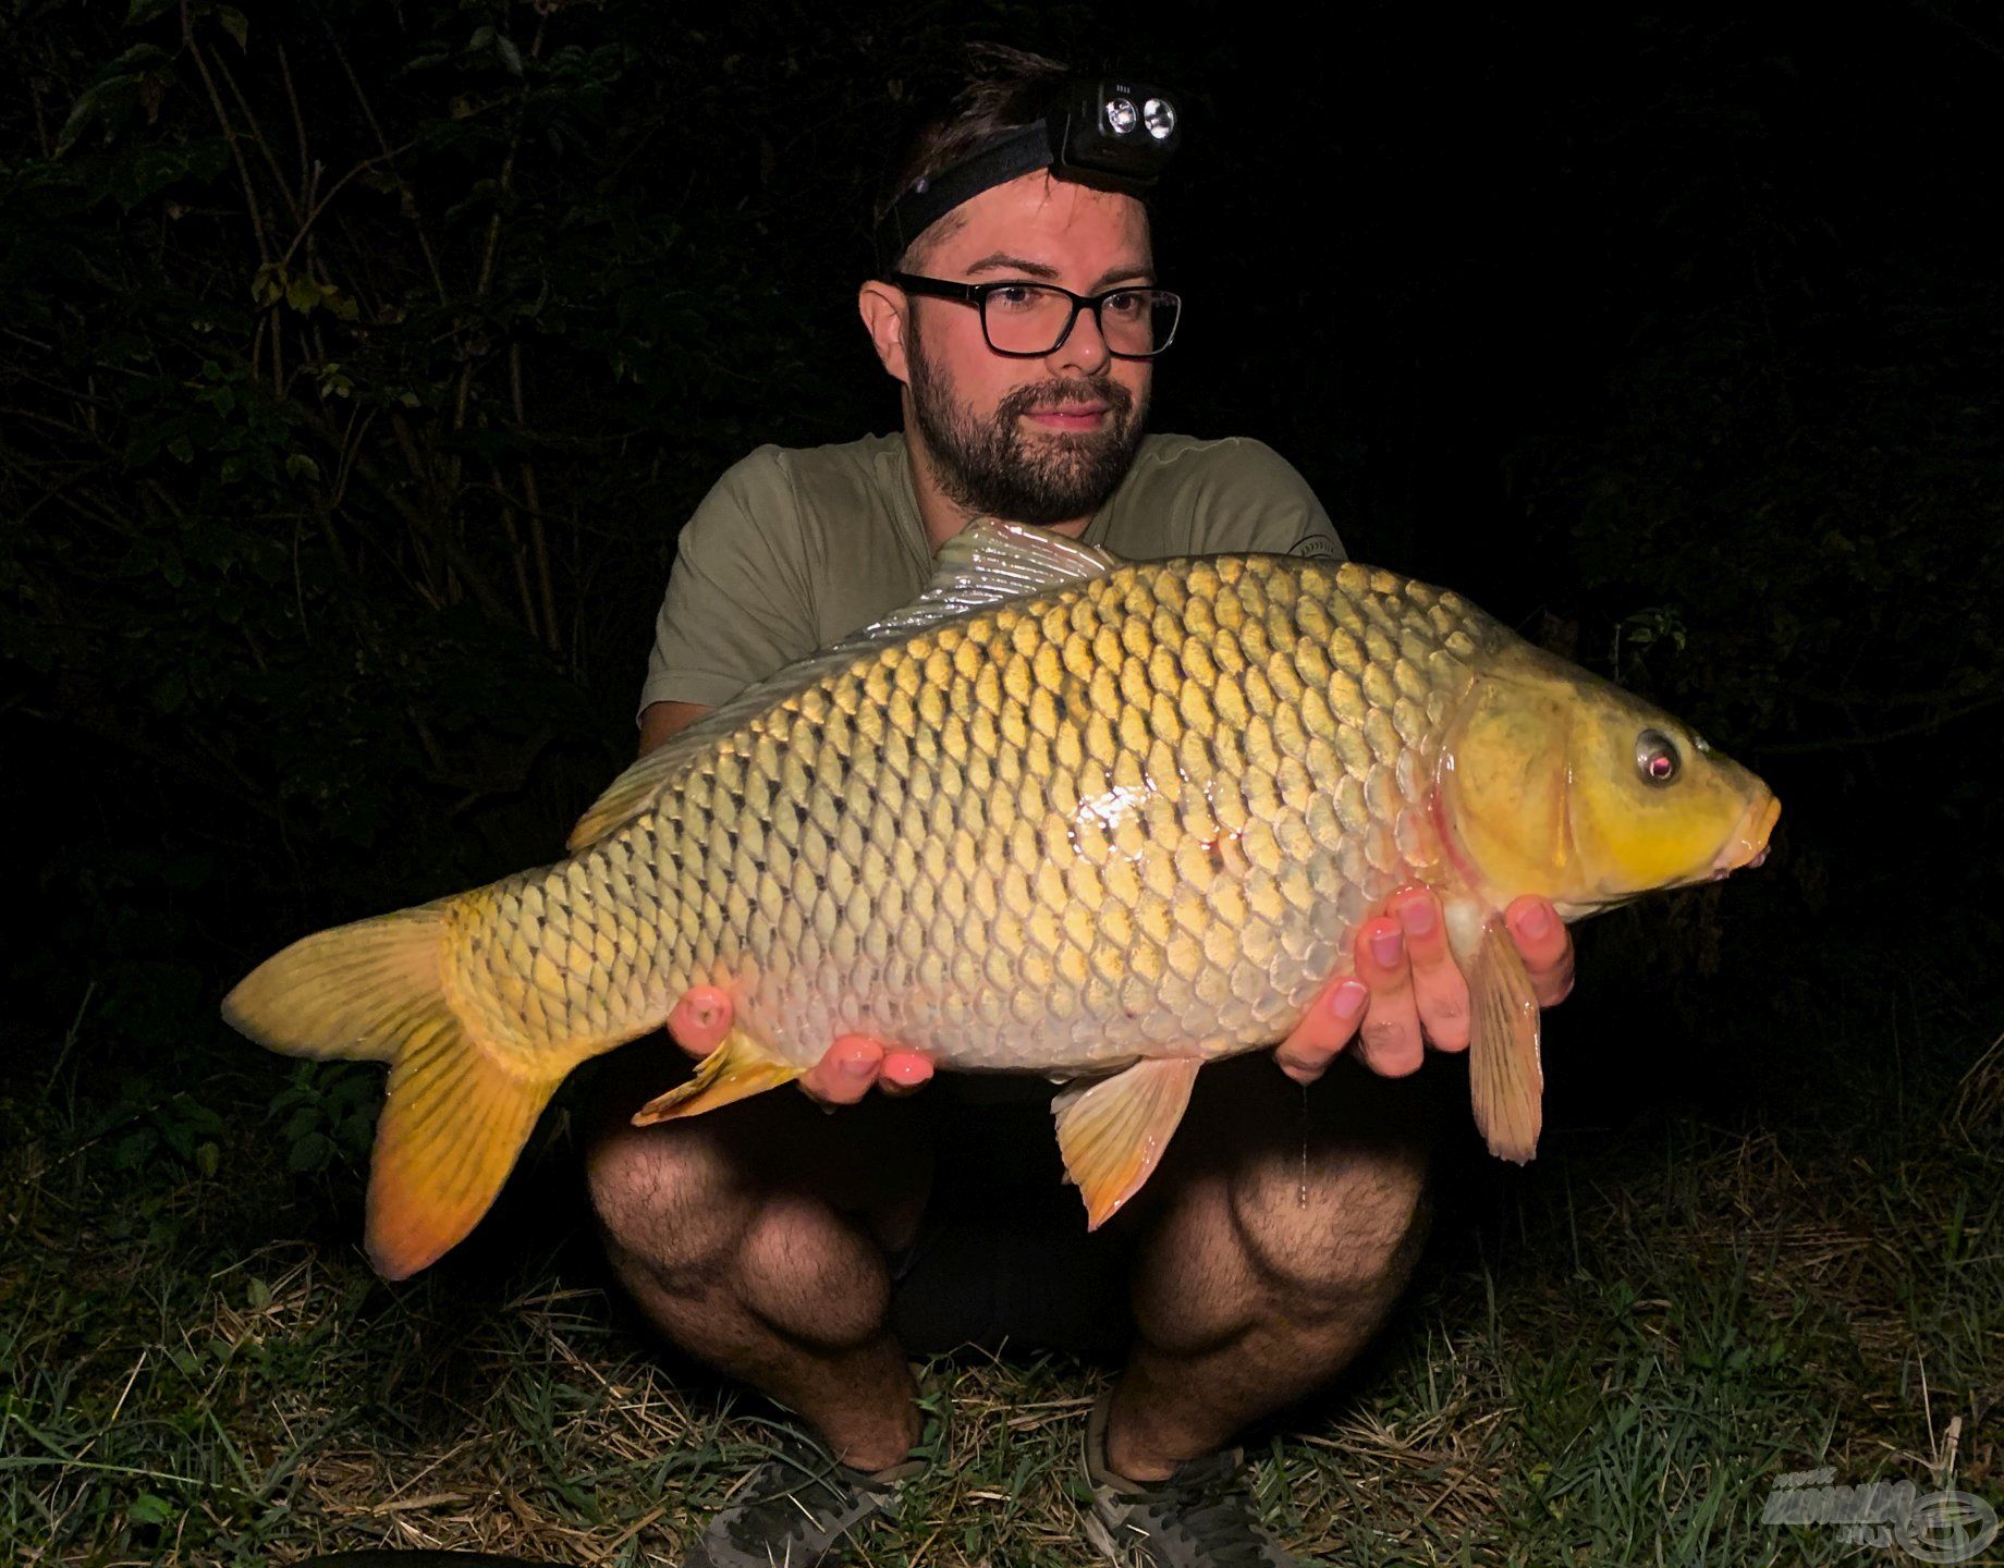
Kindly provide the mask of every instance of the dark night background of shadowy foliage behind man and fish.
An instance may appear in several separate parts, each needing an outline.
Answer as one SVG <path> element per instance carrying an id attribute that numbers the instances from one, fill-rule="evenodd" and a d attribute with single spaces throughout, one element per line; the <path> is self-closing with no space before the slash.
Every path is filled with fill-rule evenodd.
<path id="1" fill-rule="evenodd" d="M 12 1069 L 122 1083 L 134 1161 L 212 1159 L 232 1097 L 353 1161 L 375 1077 L 261 1057 L 216 997 L 559 853 L 631 753 L 679 521 L 760 443 L 896 423 L 868 192 L 968 38 L 1190 100 L 1156 429 L 1273 443 L 1353 555 L 1780 791 L 1766 869 L 1581 933 L 1555 1121 L 1966 1059 L 2000 1027 L 2004 24 L 1739 10 L 18 8 Z"/>

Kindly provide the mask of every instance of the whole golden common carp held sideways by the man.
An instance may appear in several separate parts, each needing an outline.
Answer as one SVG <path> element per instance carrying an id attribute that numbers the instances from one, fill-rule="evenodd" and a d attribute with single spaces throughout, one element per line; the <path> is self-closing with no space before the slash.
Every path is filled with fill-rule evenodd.
<path id="1" fill-rule="evenodd" d="M 222 1003 L 389 1063 L 367 1246 L 459 1242 L 587 1057 L 691 985 L 735 1023 L 635 1121 L 788 1083 L 844 1033 L 1056 1095 L 1088 1222 L 1196 1071 L 1273 1045 L 1407 883 L 1469 979 L 1473 1109 L 1529 1159 L 1537 1005 L 1501 923 L 1758 863 L 1780 805 L 1665 713 L 1455 593 L 1353 563 L 1122 563 L 978 523 L 910 609 L 639 759 L 569 859 L 305 937 Z"/>

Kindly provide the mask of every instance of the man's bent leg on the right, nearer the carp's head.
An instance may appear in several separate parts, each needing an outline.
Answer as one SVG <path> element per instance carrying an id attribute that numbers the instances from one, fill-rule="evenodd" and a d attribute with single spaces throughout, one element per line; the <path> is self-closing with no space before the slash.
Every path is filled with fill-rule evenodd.
<path id="1" fill-rule="evenodd" d="M 1307 1105 L 1265 1057 L 1198 1075 L 1160 1192 L 1134 1216 L 1136 1344 L 1108 1468 L 1164 1480 L 1357 1356 L 1425 1240 L 1429 1111 L 1417 1077 L 1349 1061 Z"/>

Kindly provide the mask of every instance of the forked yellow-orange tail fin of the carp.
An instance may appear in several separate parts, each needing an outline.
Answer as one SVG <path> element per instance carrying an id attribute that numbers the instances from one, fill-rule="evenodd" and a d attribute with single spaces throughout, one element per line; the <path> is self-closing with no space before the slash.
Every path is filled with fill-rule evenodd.
<path id="1" fill-rule="evenodd" d="M 367 1232 L 385 1280 L 417 1274 L 479 1224 L 563 1079 L 511 1071 L 453 1011 L 445 909 L 319 931 L 222 999 L 222 1017 L 275 1051 L 391 1063 Z"/>

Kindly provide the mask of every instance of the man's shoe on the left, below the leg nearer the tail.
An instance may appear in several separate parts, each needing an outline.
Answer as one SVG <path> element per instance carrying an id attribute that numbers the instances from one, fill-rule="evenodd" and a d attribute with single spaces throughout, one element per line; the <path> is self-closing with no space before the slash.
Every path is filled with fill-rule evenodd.
<path id="1" fill-rule="evenodd" d="M 802 1432 L 782 1432 L 689 1548 L 681 1568 L 832 1568 L 858 1526 L 888 1514 L 906 1486 L 946 1450 L 944 1388 L 922 1386 L 912 1456 L 890 1470 L 852 1470 Z"/>

